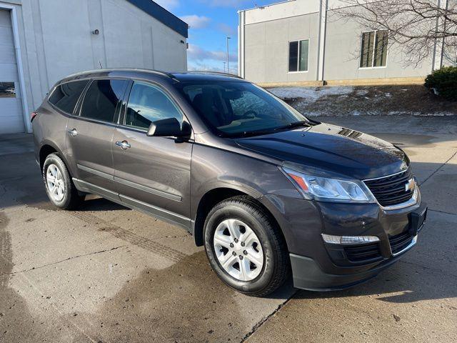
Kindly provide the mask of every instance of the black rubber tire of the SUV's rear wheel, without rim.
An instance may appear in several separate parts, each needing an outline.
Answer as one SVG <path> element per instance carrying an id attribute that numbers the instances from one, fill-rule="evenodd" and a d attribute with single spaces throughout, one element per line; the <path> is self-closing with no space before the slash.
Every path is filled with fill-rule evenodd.
<path id="1" fill-rule="evenodd" d="M 61 181 L 64 186 L 64 197 L 61 200 L 57 200 L 51 195 L 48 182 L 46 182 L 46 173 L 48 172 L 49 166 L 56 166 L 61 173 Z M 42 176 L 49 201 L 54 204 L 54 206 L 59 207 L 59 209 L 76 209 L 84 200 L 84 196 L 79 195 L 78 190 L 74 187 L 69 171 L 66 169 L 64 161 L 62 161 L 58 154 L 53 153 L 46 157 L 43 164 Z"/>

